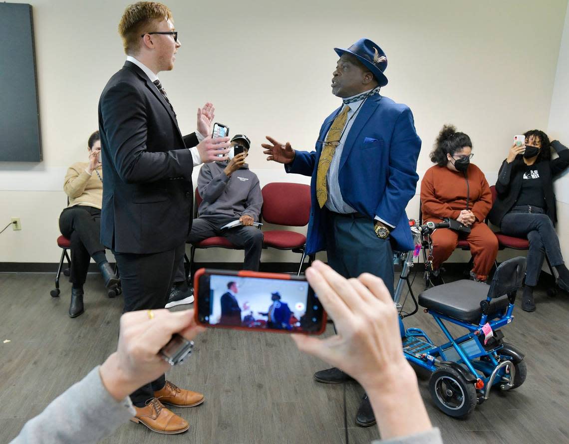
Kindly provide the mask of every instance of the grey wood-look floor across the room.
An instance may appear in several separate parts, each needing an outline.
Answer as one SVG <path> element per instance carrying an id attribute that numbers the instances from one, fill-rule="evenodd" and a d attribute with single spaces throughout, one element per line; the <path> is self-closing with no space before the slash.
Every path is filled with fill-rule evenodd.
<path id="1" fill-rule="evenodd" d="M 0 274 L 0 443 L 14 438 L 116 347 L 121 297 L 107 298 L 100 277 L 89 275 L 86 311 L 71 319 L 70 285 L 64 282 L 61 297 L 51 298 L 52 285 L 53 275 Z M 517 309 L 514 322 L 502 329 L 505 340 L 526 353 L 527 380 L 516 391 L 493 392 L 471 416 L 456 420 L 435 408 L 428 375 L 419 374 L 427 410 L 445 442 L 569 442 L 569 297 L 559 292 L 550 298 L 542 288 L 536 300 L 537 312 Z M 406 326 L 442 339 L 422 311 L 407 318 Z M 300 354 L 286 335 L 208 330 L 197 339 L 192 358 L 168 374 L 175 384 L 205 393 L 197 408 L 174 408 L 189 430 L 160 435 L 129 422 L 104 442 L 343 443 L 343 387 L 312 379 L 326 367 Z M 351 443 L 380 437 L 375 426 L 364 429 L 354 422 L 361 395 L 357 383 L 347 385 Z"/>

